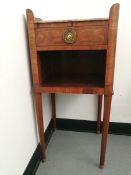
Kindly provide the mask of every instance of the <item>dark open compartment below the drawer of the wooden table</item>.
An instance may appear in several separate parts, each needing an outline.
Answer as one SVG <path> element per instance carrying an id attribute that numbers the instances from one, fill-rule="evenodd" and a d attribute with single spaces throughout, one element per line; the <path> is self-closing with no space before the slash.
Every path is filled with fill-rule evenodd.
<path id="1" fill-rule="evenodd" d="M 105 50 L 39 52 L 42 86 L 104 87 Z"/>

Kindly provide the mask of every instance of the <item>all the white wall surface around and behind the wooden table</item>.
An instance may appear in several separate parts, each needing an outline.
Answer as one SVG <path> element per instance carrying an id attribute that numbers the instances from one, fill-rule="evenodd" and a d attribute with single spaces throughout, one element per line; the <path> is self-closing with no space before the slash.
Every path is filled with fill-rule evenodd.
<path id="1" fill-rule="evenodd" d="M 12 0 L 0 5 L 0 174 L 22 175 L 37 144 L 31 93 L 25 9 L 45 20 L 107 17 L 119 2 L 111 121 L 131 123 L 131 3 L 129 0 Z M 74 5 L 75 4 L 75 5 Z M 73 7 L 73 8 L 72 8 Z M 57 95 L 57 117 L 96 120 L 97 96 Z M 43 95 L 45 129 L 51 118 L 49 95 Z"/>

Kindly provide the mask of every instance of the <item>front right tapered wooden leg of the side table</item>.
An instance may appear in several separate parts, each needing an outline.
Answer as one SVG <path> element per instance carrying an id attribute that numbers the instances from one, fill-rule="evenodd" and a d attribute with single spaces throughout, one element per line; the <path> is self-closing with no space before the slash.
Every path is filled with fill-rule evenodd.
<path id="1" fill-rule="evenodd" d="M 101 155 L 100 155 L 101 169 L 104 168 L 104 163 L 105 163 L 107 136 L 108 136 L 110 110 L 111 110 L 111 100 L 112 100 L 112 95 L 104 95 L 104 117 L 103 117 L 103 126 L 102 126 L 102 141 L 101 141 Z"/>

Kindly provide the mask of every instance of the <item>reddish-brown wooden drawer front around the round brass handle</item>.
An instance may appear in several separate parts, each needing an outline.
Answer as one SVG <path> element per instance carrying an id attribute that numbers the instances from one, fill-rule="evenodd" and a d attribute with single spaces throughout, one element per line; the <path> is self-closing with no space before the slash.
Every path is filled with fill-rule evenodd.
<path id="1" fill-rule="evenodd" d="M 65 33 L 73 31 L 73 42 L 66 42 Z M 70 27 L 70 28 L 38 28 L 36 29 L 36 46 L 82 46 L 106 45 L 107 30 L 104 26 Z"/>

